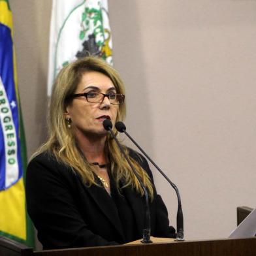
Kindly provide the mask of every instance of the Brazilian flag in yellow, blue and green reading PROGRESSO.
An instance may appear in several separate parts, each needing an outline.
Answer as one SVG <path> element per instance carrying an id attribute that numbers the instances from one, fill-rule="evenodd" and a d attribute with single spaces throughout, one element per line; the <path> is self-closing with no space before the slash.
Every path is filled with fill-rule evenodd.
<path id="1" fill-rule="evenodd" d="M 0 0 L 0 234 L 34 247 L 25 208 L 26 166 L 12 12 L 8 0 Z"/>

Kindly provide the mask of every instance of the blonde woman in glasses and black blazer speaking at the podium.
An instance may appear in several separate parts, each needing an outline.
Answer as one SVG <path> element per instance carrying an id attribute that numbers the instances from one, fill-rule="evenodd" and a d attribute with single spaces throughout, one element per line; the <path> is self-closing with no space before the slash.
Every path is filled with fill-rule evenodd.
<path id="1" fill-rule="evenodd" d="M 123 83 L 103 60 L 86 57 L 59 72 L 49 138 L 27 168 L 27 210 L 44 249 L 125 244 L 142 237 L 144 191 L 103 127 L 106 118 L 114 124 L 124 117 Z M 148 163 L 123 148 L 150 196 L 152 236 L 175 237 Z"/>

